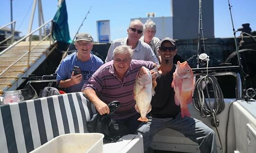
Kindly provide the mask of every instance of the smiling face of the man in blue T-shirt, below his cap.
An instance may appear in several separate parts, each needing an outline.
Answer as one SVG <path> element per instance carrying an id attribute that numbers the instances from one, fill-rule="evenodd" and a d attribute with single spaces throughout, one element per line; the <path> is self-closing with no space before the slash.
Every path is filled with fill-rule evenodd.
<path id="1" fill-rule="evenodd" d="M 75 42 L 75 48 L 78 51 L 77 54 L 80 57 L 87 57 L 90 56 L 91 49 L 93 47 L 92 42 L 87 42 L 87 41 L 78 41 Z"/>

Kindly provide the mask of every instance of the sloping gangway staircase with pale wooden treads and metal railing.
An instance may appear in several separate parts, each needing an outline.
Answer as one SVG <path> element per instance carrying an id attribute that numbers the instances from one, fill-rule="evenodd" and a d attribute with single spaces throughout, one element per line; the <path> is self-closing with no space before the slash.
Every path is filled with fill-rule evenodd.
<path id="1" fill-rule="evenodd" d="M 0 95 L 5 91 L 16 90 L 25 81 L 22 77 L 32 74 L 55 50 L 57 45 L 49 38 L 51 33 L 41 41 L 31 41 L 32 34 L 50 21 L 0 52 Z M 24 41 L 26 38 L 30 41 Z"/>

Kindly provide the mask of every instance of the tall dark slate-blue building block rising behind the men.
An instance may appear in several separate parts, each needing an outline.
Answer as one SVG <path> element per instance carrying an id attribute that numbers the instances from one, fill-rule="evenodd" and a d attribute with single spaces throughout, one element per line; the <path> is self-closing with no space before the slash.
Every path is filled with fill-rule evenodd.
<path id="1" fill-rule="evenodd" d="M 201 13 L 204 38 L 214 38 L 213 0 L 201 0 Z M 174 39 L 198 37 L 199 0 L 171 0 L 171 14 Z"/>

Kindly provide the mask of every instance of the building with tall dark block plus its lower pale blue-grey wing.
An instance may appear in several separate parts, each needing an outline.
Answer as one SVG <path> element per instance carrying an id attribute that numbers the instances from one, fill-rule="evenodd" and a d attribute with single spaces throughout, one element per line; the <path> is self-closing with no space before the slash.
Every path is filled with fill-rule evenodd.
<path id="1" fill-rule="evenodd" d="M 170 17 L 132 18 L 131 21 L 139 19 L 145 23 L 150 18 L 156 24 L 155 37 L 159 39 L 164 37 L 174 39 L 198 38 L 199 0 L 171 0 L 170 15 Z M 204 38 L 214 38 L 213 0 L 201 1 L 201 16 Z"/>

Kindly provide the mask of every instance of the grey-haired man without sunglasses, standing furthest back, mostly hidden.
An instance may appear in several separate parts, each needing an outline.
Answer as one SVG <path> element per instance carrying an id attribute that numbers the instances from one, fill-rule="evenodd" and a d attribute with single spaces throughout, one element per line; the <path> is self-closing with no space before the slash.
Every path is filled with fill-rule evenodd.
<path id="1" fill-rule="evenodd" d="M 151 47 L 151 49 L 157 56 L 159 62 L 161 63 L 161 57 L 158 56 L 158 52 L 157 52 L 159 48 L 160 40 L 157 37 L 155 37 L 155 33 L 156 33 L 155 22 L 153 22 L 151 19 L 147 19 L 143 27 L 144 36 L 142 36 L 139 40 L 142 42 L 146 42 Z"/>

